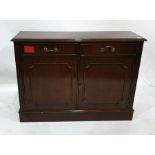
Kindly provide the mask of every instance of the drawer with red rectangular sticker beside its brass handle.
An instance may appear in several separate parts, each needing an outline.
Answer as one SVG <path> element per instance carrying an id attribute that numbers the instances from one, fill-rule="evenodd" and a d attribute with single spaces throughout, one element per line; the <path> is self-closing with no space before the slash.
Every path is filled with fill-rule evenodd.
<path id="1" fill-rule="evenodd" d="M 22 45 L 24 55 L 52 56 L 63 54 L 76 54 L 76 44 L 50 43 L 50 44 L 24 44 Z"/>

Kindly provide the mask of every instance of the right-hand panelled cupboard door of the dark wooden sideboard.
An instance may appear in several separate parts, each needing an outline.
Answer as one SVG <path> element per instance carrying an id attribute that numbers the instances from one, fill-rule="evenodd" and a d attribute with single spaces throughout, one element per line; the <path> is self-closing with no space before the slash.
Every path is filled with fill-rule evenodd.
<path id="1" fill-rule="evenodd" d="M 79 109 L 126 108 L 133 65 L 134 57 L 82 57 Z"/>

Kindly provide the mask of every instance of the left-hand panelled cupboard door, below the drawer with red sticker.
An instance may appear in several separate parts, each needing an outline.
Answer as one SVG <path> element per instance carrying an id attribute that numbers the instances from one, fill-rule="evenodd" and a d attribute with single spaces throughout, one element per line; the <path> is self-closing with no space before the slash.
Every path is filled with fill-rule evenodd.
<path id="1" fill-rule="evenodd" d="M 23 70 L 25 109 L 75 109 L 74 57 L 25 57 Z"/>

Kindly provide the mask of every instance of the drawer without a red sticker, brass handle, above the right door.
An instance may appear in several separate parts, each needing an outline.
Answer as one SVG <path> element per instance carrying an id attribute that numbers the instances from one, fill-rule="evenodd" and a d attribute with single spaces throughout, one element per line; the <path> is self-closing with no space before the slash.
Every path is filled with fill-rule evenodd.
<path id="1" fill-rule="evenodd" d="M 84 55 L 133 54 L 137 51 L 136 43 L 85 43 L 81 44 Z"/>

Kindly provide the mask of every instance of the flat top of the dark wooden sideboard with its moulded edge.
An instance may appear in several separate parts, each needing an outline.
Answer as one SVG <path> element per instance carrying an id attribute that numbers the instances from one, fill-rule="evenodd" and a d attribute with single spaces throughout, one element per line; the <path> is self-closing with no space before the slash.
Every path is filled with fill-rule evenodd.
<path id="1" fill-rule="evenodd" d="M 146 41 L 131 31 L 20 31 L 11 41 L 17 42 L 93 42 Z"/>

